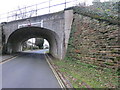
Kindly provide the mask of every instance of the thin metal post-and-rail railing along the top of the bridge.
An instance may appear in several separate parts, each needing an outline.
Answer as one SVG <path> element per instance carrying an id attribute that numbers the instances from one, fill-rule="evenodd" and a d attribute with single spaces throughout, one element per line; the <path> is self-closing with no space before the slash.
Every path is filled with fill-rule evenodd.
<path id="1" fill-rule="evenodd" d="M 76 3 L 77 0 L 56 0 L 56 2 L 55 0 L 47 0 L 39 4 L 26 6 L 5 14 L 1 14 L 0 23 L 58 12 L 64 10 L 65 8 L 75 6 Z"/>

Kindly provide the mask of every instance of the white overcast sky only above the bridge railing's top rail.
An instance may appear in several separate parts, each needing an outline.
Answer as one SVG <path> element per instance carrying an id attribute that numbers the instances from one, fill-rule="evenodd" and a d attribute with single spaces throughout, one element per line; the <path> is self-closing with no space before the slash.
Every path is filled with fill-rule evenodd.
<path id="1" fill-rule="evenodd" d="M 33 5 L 36 3 L 43 2 L 43 1 L 49 1 L 49 0 L 1 0 L 0 14 L 18 9 L 18 7 Z M 54 2 L 63 1 L 64 2 L 65 0 L 51 0 L 51 1 L 54 1 Z M 70 0 L 66 0 L 66 1 L 70 1 Z M 76 1 L 76 0 L 74 0 L 74 1 Z M 79 2 L 86 1 L 87 3 L 91 3 L 93 0 L 77 0 L 77 1 L 79 1 Z"/>

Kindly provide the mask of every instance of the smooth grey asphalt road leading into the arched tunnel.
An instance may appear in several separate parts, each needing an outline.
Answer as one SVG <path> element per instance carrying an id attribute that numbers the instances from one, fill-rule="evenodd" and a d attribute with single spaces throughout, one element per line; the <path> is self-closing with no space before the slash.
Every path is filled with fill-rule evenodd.
<path id="1" fill-rule="evenodd" d="M 44 54 L 24 52 L 2 64 L 2 88 L 60 88 Z"/>

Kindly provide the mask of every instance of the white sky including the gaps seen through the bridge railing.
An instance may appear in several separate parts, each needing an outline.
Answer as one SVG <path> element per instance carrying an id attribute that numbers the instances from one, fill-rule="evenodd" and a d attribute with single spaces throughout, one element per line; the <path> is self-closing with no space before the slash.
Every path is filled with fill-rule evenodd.
<path id="1" fill-rule="evenodd" d="M 23 13 L 25 11 L 35 10 L 36 6 L 19 10 L 20 8 L 39 4 L 41 2 L 46 2 L 46 1 L 47 1 L 47 3 L 40 4 L 39 6 L 37 6 L 37 8 L 48 7 L 49 1 L 50 1 L 50 5 L 64 3 L 65 1 L 66 2 L 73 1 L 72 3 L 69 3 L 66 5 L 67 7 L 70 7 L 70 6 L 79 4 L 80 2 L 81 3 L 86 2 L 87 4 L 92 4 L 93 0 L 1 0 L 1 3 L 0 3 L 0 22 L 12 21 L 13 18 L 14 19 L 16 18 L 15 15 L 19 15 L 21 12 Z M 39 12 L 37 12 L 37 15 L 44 15 L 44 14 L 48 14 L 48 13 L 58 12 L 58 11 L 63 10 L 64 8 L 65 8 L 65 5 L 51 7 L 50 10 L 49 10 L 49 8 L 42 9 Z M 18 11 L 11 12 L 8 14 L 8 12 L 14 11 L 14 10 L 18 10 Z M 8 16 L 13 16 L 13 15 L 14 15 L 14 17 L 7 18 Z M 17 16 L 17 19 L 22 18 L 22 17 L 30 17 L 31 15 L 35 16 L 36 12 L 27 13 L 24 15 L 25 16 Z"/>

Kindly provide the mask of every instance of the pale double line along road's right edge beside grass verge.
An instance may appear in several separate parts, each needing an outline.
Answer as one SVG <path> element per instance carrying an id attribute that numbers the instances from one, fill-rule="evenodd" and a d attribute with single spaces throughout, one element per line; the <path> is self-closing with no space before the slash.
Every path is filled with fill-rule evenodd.
<path id="1" fill-rule="evenodd" d="M 44 54 L 45 55 L 45 54 Z M 52 67 L 52 65 L 50 64 L 49 60 L 47 59 L 47 56 L 45 55 L 46 61 L 48 63 L 48 65 L 50 66 L 51 70 L 53 71 L 53 74 L 55 75 L 59 85 L 61 88 L 65 88 L 64 84 L 62 83 L 61 79 L 59 78 L 58 74 L 56 73 L 56 71 L 54 70 L 54 68 Z"/>

